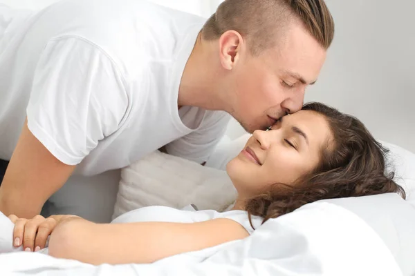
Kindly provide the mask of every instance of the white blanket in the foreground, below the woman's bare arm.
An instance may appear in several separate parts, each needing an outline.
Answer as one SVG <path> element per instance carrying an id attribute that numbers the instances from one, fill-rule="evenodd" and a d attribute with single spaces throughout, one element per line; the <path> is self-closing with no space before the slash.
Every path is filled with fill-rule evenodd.
<path id="1" fill-rule="evenodd" d="M 87 244 L 85 245 L 87 246 Z M 91 266 L 38 253 L 0 255 L 1 275 L 400 276 L 380 237 L 360 217 L 327 202 L 271 219 L 250 237 L 154 264 Z"/>

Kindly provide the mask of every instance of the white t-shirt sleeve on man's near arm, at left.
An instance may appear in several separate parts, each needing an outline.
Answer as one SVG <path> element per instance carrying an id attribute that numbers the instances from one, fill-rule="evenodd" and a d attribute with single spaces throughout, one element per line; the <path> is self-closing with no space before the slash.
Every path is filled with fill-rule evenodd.
<path id="1" fill-rule="evenodd" d="M 48 43 L 37 64 L 28 128 L 57 159 L 77 165 L 120 128 L 127 106 L 111 58 L 89 41 L 63 37 Z"/>

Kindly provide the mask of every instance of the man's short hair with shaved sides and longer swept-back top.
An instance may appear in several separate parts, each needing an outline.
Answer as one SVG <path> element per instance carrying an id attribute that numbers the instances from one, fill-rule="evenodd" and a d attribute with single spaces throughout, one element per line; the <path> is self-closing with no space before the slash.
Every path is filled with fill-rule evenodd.
<path id="1" fill-rule="evenodd" d="M 275 46 L 293 19 L 299 19 L 308 32 L 328 49 L 334 37 L 334 21 L 324 0 L 225 0 L 202 29 L 207 40 L 239 32 L 252 54 Z"/>

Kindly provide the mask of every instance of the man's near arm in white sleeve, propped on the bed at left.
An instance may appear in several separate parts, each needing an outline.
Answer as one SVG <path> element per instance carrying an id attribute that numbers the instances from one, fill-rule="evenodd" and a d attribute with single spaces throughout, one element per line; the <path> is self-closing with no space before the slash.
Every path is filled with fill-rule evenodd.
<path id="1" fill-rule="evenodd" d="M 79 37 L 51 39 L 34 72 L 0 210 L 27 219 L 39 214 L 75 166 L 120 128 L 128 106 L 122 74 L 106 52 Z"/>

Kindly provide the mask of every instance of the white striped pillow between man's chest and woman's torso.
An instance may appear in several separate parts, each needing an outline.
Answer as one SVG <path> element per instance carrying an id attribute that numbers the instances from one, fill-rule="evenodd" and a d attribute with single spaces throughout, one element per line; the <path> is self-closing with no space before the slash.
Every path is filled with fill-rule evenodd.
<path id="1" fill-rule="evenodd" d="M 166 155 L 158 150 L 122 169 L 113 219 L 145 206 L 224 210 L 237 191 L 223 170 Z"/>

